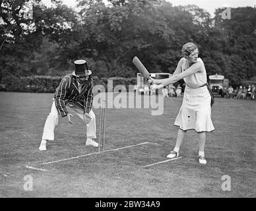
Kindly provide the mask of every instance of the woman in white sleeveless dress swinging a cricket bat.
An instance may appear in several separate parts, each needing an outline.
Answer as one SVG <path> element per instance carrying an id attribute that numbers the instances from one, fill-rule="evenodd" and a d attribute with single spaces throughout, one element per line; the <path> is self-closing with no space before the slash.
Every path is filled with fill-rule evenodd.
<path id="1" fill-rule="evenodd" d="M 194 129 L 198 135 L 199 163 L 207 164 L 205 158 L 206 133 L 214 131 L 210 117 L 211 96 L 207 88 L 207 73 L 205 65 L 198 57 L 197 45 L 189 42 L 183 45 L 181 53 L 183 58 L 179 60 L 176 71 L 170 78 L 156 80 L 153 78 L 152 88 L 162 88 L 168 84 L 174 84 L 178 80 L 185 81 L 183 102 L 174 125 L 179 127 L 176 146 L 168 154 L 168 158 L 179 156 L 179 148 L 187 130 Z"/>

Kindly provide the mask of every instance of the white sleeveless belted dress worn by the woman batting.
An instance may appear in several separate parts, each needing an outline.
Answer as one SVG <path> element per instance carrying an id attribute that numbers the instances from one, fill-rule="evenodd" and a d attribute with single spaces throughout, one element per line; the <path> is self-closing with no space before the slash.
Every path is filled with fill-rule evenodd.
<path id="1" fill-rule="evenodd" d="M 181 65 L 182 72 L 185 71 L 185 58 Z M 203 63 L 201 58 L 198 62 Z M 207 86 L 202 86 L 207 82 L 207 73 L 205 65 L 202 72 L 197 72 L 183 78 L 185 81 L 185 92 L 183 102 L 174 125 L 183 131 L 194 129 L 196 132 L 214 131 L 212 119 L 210 118 L 210 94 Z"/>

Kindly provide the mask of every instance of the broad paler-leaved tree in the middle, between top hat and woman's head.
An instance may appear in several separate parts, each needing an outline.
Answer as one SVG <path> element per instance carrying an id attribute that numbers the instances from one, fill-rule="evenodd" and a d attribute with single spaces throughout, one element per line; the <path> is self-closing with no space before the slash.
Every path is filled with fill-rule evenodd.
<path id="1" fill-rule="evenodd" d="M 82 26 L 78 49 L 81 55 L 106 64 L 109 73 L 131 72 L 135 53 L 160 44 L 172 30 L 159 16 L 162 1 L 79 1 Z M 162 34 L 161 34 L 162 33 Z M 164 34 L 165 33 L 165 34 Z"/>

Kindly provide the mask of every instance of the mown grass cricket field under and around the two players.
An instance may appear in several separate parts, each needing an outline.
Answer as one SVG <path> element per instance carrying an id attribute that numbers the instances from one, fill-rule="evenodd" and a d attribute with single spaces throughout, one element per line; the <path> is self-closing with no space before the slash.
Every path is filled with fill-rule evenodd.
<path id="1" fill-rule="evenodd" d="M 1 197 L 256 196 L 256 101 L 216 98 L 215 131 L 207 133 L 207 165 L 198 163 L 197 135 L 188 131 L 182 158 L 144 167 L 168 160 L 181 98 L 164 99 L 160 116 L 150 115 L 150 109 L 108 109 L 108 151 L 97 154 L 98 148 L 85 146 L 84 125 L 77 116 L 74 125 L 60 118 L 55 140 L 47 151 L 38 150 L 52 96 L 0 92 Z M 94 113 L 99 125 L 99 109 Z M 25 175 L 32 177 L 32 191 L 24 191 Z M 230 176 L 230 191 L 222 191 L 224 175 Z"/>

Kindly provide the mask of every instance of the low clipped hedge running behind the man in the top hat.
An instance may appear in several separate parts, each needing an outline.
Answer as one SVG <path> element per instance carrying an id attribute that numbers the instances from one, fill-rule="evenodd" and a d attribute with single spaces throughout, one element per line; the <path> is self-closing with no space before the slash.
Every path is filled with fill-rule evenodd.
<path id="1" fill-rule="evenodd" d="M 7 92 L 55 92 L 55 89 L 61 82 L 62 76 L 26 76 L 26 77 L 16 77 L 16 76 L 5 76 L 1 80 L 1 84 L 5 84 L 5 90 Z M 113 80 L 113 87 L 116 85 L 125 85 L 128 90 L 129 85 L 135 85 L 136 78 L 98 78 L 98 76 L 93 76 L 94 85 L 102 85 L 108 90 L 108 80 Z"/>

